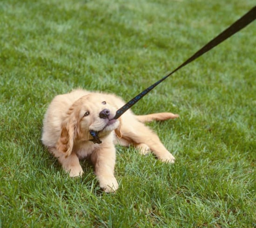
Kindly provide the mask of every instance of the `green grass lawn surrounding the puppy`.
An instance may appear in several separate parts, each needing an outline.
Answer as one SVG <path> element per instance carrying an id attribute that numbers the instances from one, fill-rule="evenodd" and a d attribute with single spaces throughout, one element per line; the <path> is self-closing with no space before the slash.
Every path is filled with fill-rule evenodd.
<path id="1" fill-rule="evenodd" d="M 43 148 L 51 99 L 76 87 L 125 100 L 178 67 L 253 0 L 2 0 L 0 227 L 256 227 L 256 24 L 175 73 L 133 110 L 174 165 L 117 147 L 116 194 L 71 179 Z"/>

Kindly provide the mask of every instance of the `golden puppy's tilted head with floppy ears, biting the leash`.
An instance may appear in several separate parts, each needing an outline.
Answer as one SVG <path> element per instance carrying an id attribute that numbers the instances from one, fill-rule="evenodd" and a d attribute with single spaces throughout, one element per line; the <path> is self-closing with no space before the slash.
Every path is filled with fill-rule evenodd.
<path id="1" fill-rule="evenodd" d="M 119 135 L 119 120 L 113 119 L 117 107 L 101 93 L 90 93 L 76 100 L 62 122 L 57 150 L 71 154 L 74 142 L 92 139 L 89 131 L 99 132 L 104 138 L 115 130 Z M 91 142 L 92 143 L 92 142 Z"/>

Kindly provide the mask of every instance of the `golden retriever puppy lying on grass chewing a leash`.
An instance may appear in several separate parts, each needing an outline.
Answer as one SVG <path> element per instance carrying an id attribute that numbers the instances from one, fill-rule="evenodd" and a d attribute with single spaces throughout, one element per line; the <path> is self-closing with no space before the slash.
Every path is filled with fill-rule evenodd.
<path id="1" fill-rule="evenodd" d="M 124 104 L 115 95 L 81 89 L 57 95 L 45 114 L 42 142 L 71 177 L 83 174 L 79 159 L 90 158 L 105 192 L 118 189 L 114 177 L 116 143 L 134 145 L 142 154 L 152 151 L 161 161 L 173 163 L 173 155 L 143 122 L 174 119 L 178 115 L 164 112 L 136 116 L 128 110 L 118 120 L 113 119 Z M 99 132 L 101 144 L 90 141 L 90 130 Z"/>

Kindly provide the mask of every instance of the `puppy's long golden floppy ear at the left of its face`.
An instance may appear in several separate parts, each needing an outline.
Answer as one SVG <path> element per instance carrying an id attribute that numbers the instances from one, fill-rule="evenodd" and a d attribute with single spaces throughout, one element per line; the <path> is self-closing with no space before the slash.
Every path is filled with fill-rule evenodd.
<path id="1" fill-rule="evenodd" d="M 60 138 L 57 141 L 57 150 L 63 152 L 68 157 L 72 153 L 74 139 L 76 135 L 75 117 L 70 114 L 61 124 Z"/>

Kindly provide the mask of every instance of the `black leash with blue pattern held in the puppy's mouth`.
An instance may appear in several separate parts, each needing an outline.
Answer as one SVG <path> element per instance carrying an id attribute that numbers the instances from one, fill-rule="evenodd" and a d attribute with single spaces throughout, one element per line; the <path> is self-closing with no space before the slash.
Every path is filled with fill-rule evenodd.
<path id="1" fill-rule="evenodd" d="M 143 90 L 140 94 L 138 94 L 136 97 L 132 98 L 129 102 L 127 102 L 124 106 L 119 108 L 116 111 L 116 115 L 113 119 L 118 119 L 124 112 L 126 112 L 128 109 L 130 109 L 133 105 L 135 105 L 140 99 L 142 99 L 147 93 L 149 93 L 154 87 L 156 87 L 158 84 L 160 84 L 162 81 L 164 81 L 166 78 L 168 78 L 170 75 L 175 73 L 180 68 L 184 67 L 188 63 L 192 62 L 193 60 L 197 59 L 201 55 L 203 55 L 205 52 L 210 51 L 213 47 L 216 47 L 218 44 L 229 38 L 230 36 L 234 35 L 235 33 L 239 32 L 242 28 L 246 27 L 248 24 L 253 22 L 256 19 L 256 6 L 254 6 L 250 11 L 248 11 L 245 15 L 243 15 L 240 19 L 235 21 L 231 26 L 229 26 L 226 30 L 224 30 L 222 33 L 220 33 L 218 36 L 213 38 L 209 43 L 205 44 L 204 47 L 202 47 L 199 51 L 197 51 L 194 55 L 192 55 L 188 60 L 186 60 L 184 63 L 182 63 L 179 67 L 177 67 L 175 70 L 173 70 L 171 73 L 167 74 L 164 78 L 160 79 L 153 85 L 149 86 L 147 89 Z M 97 131 L 90 131 L 90 134 L 92 135 L 94 143 L 101 143 Z"/>

